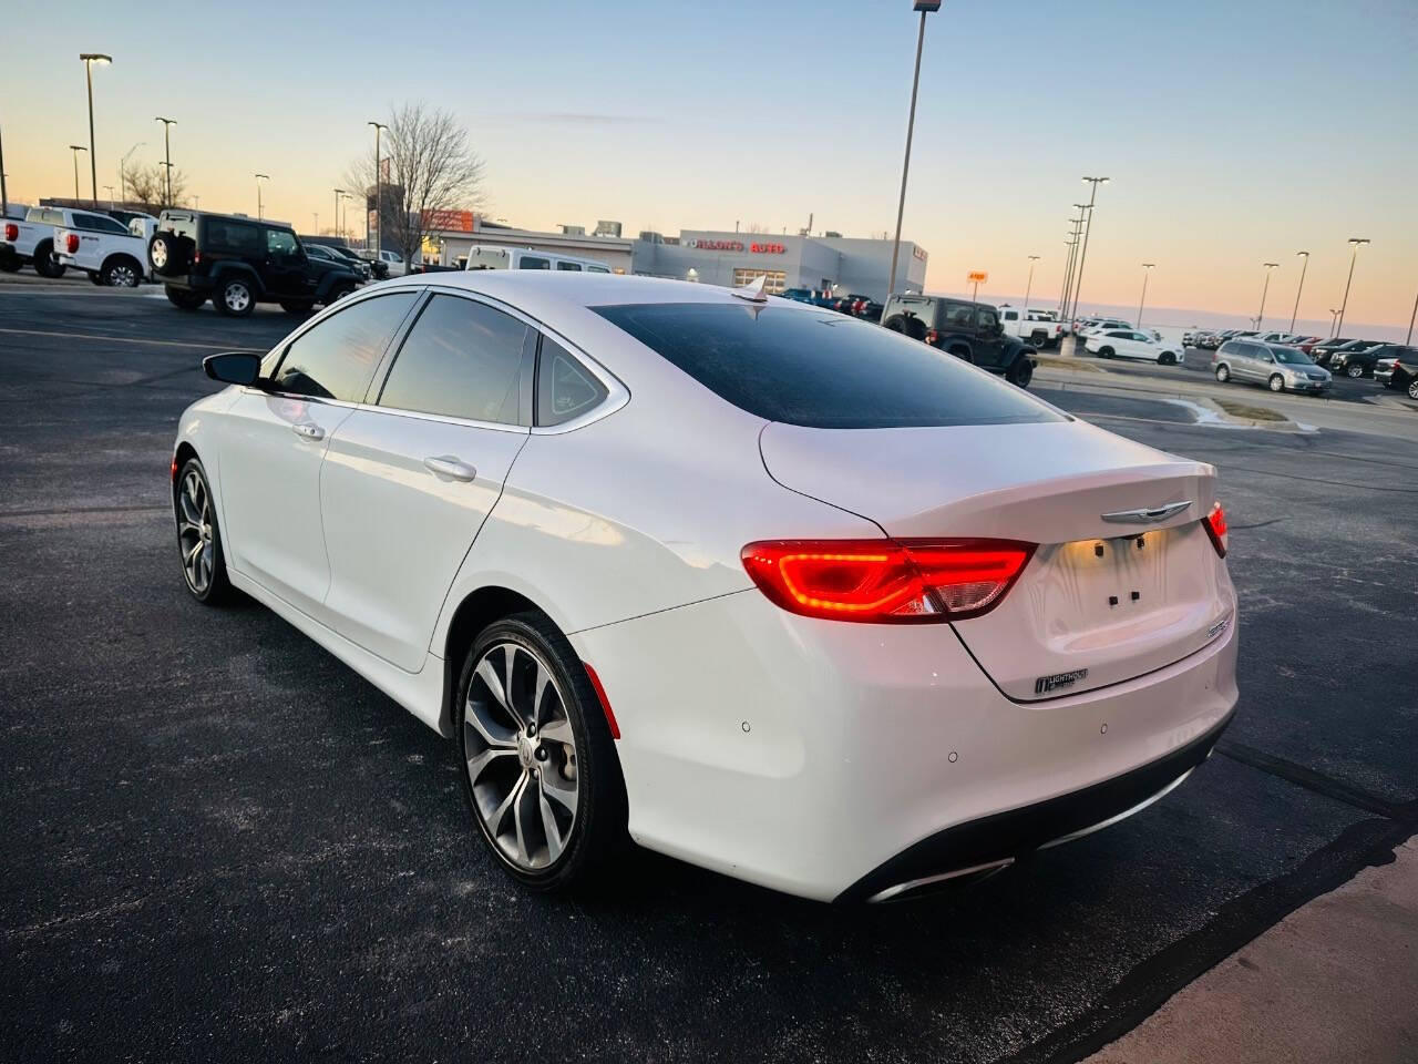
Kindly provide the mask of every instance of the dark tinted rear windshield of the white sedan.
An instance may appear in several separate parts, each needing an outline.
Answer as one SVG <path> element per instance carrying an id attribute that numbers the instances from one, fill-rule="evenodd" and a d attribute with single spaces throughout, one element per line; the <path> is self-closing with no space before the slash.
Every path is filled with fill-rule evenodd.
<path id="1" fill-rule="evenodd" d="M 722 399 L 810 428 L 1062 420 L 919 340 L 841 314 L 744 304 L 597 306 Z"/>

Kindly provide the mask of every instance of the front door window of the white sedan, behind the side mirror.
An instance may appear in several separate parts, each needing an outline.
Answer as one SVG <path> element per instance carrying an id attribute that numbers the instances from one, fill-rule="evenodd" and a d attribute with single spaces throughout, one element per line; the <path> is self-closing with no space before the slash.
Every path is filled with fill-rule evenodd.
<path id="1" fill-rule="evenodd" d="M 363 299 L 301 333 L 275 372 L 278 392 L 359 403 L 414 292 Z"/>

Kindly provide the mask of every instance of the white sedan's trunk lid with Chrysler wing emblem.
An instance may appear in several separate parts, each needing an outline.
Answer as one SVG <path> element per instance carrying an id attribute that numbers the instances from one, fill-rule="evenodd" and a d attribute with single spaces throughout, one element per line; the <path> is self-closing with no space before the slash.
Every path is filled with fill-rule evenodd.
<path id="1" fill-rule="evenodd" d="M 1010 698 L 1051 698 L 1163 668 L 1229 621 L 1229 579 L 1201 525 L 1215 501 L 1215 468 L 1204 462 L 1081 421 L 773 423 L 760 447 L 780 484 L 869 518 L 889 536 L 1038 545 L 997 607 L 953 623 Z"/>

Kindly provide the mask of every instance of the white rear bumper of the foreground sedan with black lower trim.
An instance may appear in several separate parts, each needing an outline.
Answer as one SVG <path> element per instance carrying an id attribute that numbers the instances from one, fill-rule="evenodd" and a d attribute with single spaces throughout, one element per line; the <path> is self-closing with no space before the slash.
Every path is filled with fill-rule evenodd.
<path id="1" fill-rule="evenodd" d="M 620 724 L 631 836 L 820 901 L 1106 820 L 1200 762 L 1238 698 L 1235 624 L 1147 675 L 1034 702 L 947 624 L 814 620 L 757 590 L 570 638 Z"/>

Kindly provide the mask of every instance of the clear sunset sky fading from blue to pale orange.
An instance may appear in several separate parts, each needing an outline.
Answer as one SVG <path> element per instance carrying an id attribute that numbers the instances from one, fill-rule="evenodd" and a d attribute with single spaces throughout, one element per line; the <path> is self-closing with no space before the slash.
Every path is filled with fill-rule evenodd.
<path id="1" fill-rule="evenodd" d="M 367 119 L 427 101 L 486 160 L 488 214 L 628 233 L 735 221 L 869 235 L 895 221 L 916 16 L 910 0 L 458 3 L 248 0 L 7 4 L 0 132 L 13 200 L 74 190 L 95 70 L 99 196 L 119 157 L 173 162 L 201 207 L 330 224 L 332 189 L 370 150 Z M 34 31 L 26 27 L 34 27 Z M 43 28 L 43 31 L 41 31 Z M 946 0 L 930 16 L 905 235 L 926 287 L 1056 302 L 1066 218 L 1099 192 L 1085 304 L 1329 322 L 1360 254 L 1351 322 L 1407 328 L 1418 291 L 1414 0 Z M 81 189 L 88 194 L 85 167 Z M 1283 314 L 1282 314 L 1283 309 Z"/>

